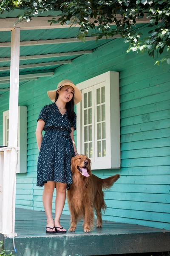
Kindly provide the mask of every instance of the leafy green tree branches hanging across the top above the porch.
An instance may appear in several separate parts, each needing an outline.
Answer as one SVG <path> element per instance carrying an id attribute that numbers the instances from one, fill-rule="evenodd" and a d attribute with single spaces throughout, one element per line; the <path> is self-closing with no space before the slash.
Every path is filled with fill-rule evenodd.
<path id="1" fill-rule="evenodd" d="M 1 0 L 1 12 L 14 8 L 25 9 L 24 15 L 19 17 L 20 21 L 29 21 L 40 12 L 60 11 L 60 18 L 52 18 L 49 22 L 71 26 L 79 24 L 77 36 L 83 42 L 89 30 L 95 29 L 98 23 L 99 32 L 91 33 L 96 40 L 119 34 L 129 44 L 127 52 L 147 52 L 153 58 L 155 52 L 167 52 L 161 62 L 170 64 L 169 0 Z M 147 26 L 151 30 L 147 35 L 142 35 L 136 27 L 136 20 L 142 20 L 144 15 L 150 20 Z M 157 60 L 156 64 L 159 62 Z"/>

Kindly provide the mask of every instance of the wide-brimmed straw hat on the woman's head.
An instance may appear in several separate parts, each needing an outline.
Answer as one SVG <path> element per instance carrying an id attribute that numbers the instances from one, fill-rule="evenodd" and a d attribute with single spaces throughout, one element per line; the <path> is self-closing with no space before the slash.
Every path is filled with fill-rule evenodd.
<path id="1" fill-rule="evenodd" d="M 55 102 L 57 90 L 65 85 L 70 85 L 71 87 L 74 88 L 74 105 L 76 105 L 77 103 L 79 103 L 82 100 L 82 93 L 77 88 L 77 86 L 74 85 L 74 83 L 71 80 L 65 79 L 65 80 L 62 80 L 61 82 L 59 82 L 56 90 L 50 90 L 47 92 L 48 97 L 52 100 L 52 102 Z"/>

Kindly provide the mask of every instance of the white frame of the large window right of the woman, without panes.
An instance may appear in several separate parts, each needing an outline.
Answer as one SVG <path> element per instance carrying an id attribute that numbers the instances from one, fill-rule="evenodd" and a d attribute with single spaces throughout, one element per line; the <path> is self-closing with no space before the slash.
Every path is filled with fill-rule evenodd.
<path id="1" fill-rule="evenodd" d="M 120 168 L 120 108 L 119 108 L 119 72 L 108 71 L 99 76 L 95 76 L 86 81 L 77 84 L 77 87 L 83 94 L 83 90 L 94 90 L 94 135 L 92 140 L 95 140 L 96 152 L 96 89 L 105 84 L 105 122 L 106 122 L 106 157 L 94 157 L 91 159 L 92 169 L 119 169 Z M 83 95 L 82 95 L 83 96 Z M 92 99 L 93 100 L 93 99 Z M 77 151 L 83 154 L 83 133 L 82 133 L 82 104 L 77 104 Z M 114 111 L 112 111 L 114 109 Z"/>

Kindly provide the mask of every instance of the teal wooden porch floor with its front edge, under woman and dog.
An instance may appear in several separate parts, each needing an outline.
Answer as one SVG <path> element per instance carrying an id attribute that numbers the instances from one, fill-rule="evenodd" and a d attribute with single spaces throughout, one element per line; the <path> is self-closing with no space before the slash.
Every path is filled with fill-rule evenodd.
<path id="1" fill-rule="evenodd" d="M 61 224 L 67 230 L 69 222 L 70 216 L 62 215 Z M 75 233 L 50 235 L 45 233 L 45 225 L 45 212 L 16 209 L 17 256 L 94 256 L 170 251 L 168 230 L 103 221 L 102 229 L 95 227 L 93 232 L 84 234 L 81 221 Z M 12 239 L 6 238 L 4 244 L 6 250 L 13 250 Z"/>

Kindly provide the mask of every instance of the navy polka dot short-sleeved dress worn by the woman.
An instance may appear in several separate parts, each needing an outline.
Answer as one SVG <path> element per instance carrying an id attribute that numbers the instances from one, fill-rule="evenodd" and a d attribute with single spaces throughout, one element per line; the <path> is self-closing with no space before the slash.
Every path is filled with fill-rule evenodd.
<path id="1" fill-rule="evenodd" d="M 68 121 L 68 113 L 62 115 L 55 103 L 42 108 L 38 120 L 45 122 L 37 166 L 37 186 L 47 181 L 67 183 L 67 189 L 73 183 L 71 174 L 71 157 L 74 147 L 71 140 L 71 127 L 76 130 L 76 113 L 73 122 Z M 37 121 L 38 121 L 37 120 Z"/>

